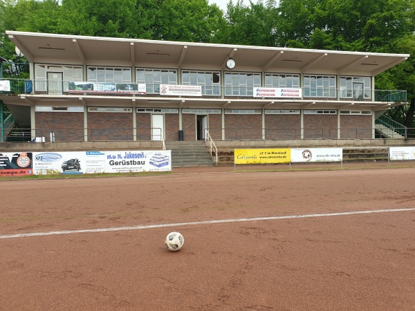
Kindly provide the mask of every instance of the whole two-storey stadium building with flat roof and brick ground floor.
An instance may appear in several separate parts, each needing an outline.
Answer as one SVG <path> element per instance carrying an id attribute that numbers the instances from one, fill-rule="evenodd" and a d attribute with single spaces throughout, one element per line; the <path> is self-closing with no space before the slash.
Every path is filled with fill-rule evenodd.
<path id="1" fill-rule="evenodd" d="M 374 139 L 406 102 L 375 86 L 406 54 L 6 34 L 30 79 L 0 100 L 44 142 Z"/>

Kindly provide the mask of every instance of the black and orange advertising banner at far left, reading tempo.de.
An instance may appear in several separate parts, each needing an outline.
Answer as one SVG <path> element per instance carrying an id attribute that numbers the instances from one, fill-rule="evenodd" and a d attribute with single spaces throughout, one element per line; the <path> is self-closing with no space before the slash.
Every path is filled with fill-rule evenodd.
<path id="1" fill-rule="evenodd" d="M 0 177 L 33 175 L 32 159 L 31 152 L 0 153 Z"/>

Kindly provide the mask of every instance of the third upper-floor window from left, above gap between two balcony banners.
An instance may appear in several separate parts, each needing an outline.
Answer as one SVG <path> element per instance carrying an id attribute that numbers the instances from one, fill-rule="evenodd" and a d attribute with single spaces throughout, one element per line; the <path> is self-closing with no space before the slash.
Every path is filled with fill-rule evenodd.
<path id="1" fill-rule="evenodd" d="M 136 69 L 136 82 L 146 84 L 147 94 L 159 94 L 160 84 L 177 85 L 177 71 L 169 69 Z"/>

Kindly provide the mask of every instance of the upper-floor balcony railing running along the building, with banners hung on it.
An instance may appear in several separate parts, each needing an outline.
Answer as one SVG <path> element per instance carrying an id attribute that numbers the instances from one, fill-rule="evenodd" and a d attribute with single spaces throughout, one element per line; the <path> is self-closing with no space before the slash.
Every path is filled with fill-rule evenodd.
<path id="1" fill-rule="evenodd" d="M 160 95 L 160 84 L 145 84 L 145 91 L 136 91 L 138 84 L 122 83 L 123 89 L 101 87 L 99 90 L 84 88 L 77 91 L 71 90 L 70 84 L 73 82 L 55 80 L 30 80 L 30 79 L 3 79 L 10 81 L 10 91 L 0 91 L 0 95 L 20 95 L 20 94 L 49 94 L 49 95 L 68 95 L 72 93 L 82 93 L 84 95 L 131 95 L 140 96 L 163 96 Z M 94 82 L 84 82 L 93 84 Z M 106 86 L 111 83 L 101 83 Z M 113 83 L 116 85 L 116 83 Z M 259 86 L 258 86 L 259 87 Z M 267 98 L 273 100 L 342 100 L 353 102 L 407 102 L 407 91 L 402 90 L 369 90 L 369 89 L 346 89 L 346 88 L 291 88 L 301 90 L 301 97 L 255 97 L 255 99 Z M 204 97 L 212 98 L 254 98 L 254 87 L 248 86 L 202 86 L 201 94 Z"/>

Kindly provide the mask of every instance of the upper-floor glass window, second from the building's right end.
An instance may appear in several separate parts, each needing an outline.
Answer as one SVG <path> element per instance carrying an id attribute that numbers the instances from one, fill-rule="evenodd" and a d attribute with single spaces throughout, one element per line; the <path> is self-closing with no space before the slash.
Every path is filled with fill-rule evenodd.
<path id="1" fill-rule="evenodd" d="M 335 76 L 304 75 L 304 97 L 336 97 Z"/>

